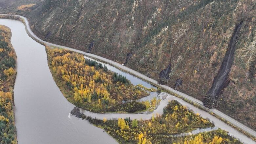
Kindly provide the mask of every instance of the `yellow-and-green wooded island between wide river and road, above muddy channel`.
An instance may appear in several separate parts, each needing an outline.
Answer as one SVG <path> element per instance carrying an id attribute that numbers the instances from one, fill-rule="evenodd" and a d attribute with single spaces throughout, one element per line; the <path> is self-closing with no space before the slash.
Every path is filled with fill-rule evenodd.
<path id="1" fill-rule="evenodd" d="M 47 48 L 47 54 L 54 80 L 77 107 L 96 113 L 146 110 L 140 102 L 122 102 L 149 95 L 126 77 L 76 52 Z"/>

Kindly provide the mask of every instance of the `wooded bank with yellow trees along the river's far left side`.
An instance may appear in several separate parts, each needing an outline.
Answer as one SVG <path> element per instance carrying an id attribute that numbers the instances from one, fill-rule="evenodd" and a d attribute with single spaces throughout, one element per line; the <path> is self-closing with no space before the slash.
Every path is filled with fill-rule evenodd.
<path id="1" fill-rule="evenodd" d="M 13 111 L 16 60 L 17 57 L 11 45 L 11 30 L 0 25 L 0 142 L 2 144 L 17 144 Z"/>

